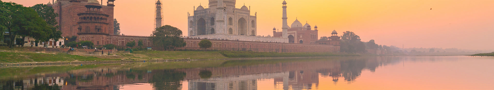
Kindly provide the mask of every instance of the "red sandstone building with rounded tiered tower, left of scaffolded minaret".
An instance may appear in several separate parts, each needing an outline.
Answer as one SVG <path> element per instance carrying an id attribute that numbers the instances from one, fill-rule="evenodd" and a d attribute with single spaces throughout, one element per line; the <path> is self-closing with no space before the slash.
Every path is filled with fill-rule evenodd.
<path id="1" fill-rule="evenodd" d="M 113 1 L 108 0 L 108 5 L 98 0 L 54 1 L 52 8 L 58 13 L 62 36 L 79 36 L 80 32 L 113 34 Z"/>

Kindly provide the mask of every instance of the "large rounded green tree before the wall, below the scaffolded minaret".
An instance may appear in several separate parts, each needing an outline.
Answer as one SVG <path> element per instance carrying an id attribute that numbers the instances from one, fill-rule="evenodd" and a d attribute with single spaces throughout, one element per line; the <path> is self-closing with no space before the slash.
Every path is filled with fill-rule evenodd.
<path id="1" fill-rule="evenodd" d="M 180 46 L 178 44 L 183 43 L 181 36 L 182 31 L 180 29 L 165 25 L 156 28 L 149 38 L 153 42 L 153 45 L 162 46 L 165 50 L 170 50 L 171 47 L 177 47 Z"/>

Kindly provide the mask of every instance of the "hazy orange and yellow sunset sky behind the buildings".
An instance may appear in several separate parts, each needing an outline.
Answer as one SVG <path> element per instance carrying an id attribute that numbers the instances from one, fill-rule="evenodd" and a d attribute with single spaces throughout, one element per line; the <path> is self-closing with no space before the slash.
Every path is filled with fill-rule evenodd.
<path id="1" fill-rule="evenodd" d="M 2 0 L 25 6 L 48 0 Z M 51 1 L 51 0 L 50 0 Z M 126 35 L 149 35 L 155 0 L 116 0 L 115 18 Z M 257 11 L 258 35 L 281 29 L 283 0 L 237 0 Z M 106 2 L 106 0 L 104 0 Z M 494 49 L 494 0 L 287 0 L 288 25 L 298 17 L 319 27 L 319 37 L 332 30 L 352 31 L 362 41 L 379 45 Z M 208 0 L 163 0 L 164 23 L 187 29 L 187 12 Z M 106 4 L 104 4 L 106 5 Z M 432 10 L 430 9 L 432 8 Z M 187 32 L 184 32 L 187 35 Z"/>

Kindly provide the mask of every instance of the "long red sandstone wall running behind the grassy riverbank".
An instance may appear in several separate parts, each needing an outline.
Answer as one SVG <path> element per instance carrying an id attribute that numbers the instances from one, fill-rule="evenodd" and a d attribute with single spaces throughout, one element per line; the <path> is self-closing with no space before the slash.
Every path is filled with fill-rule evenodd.
<path id="1" fill-rule="evenodd" d="M 114 44 L 125 46 L 127 42 L 139 41 L 144 42 L 145 47 L 155 47 L 148 37 L 133 36 L 107 36 L 107 35 L 80 35 L 78 42 L 91 41 L 94 45 Z M 185 47 L 178 49 L 202 50 L 199 42 L 202 39 L 184 39 L 187 43 Z M 319 45 L 319 44 L 292 44 L 292 43 L 269 43 L 269 42 L 248 42 L 248 41 L 226 41 L 226 40 L 209 40 L 212 43 L 211 48 L 215 50 L 239 50 L 239 51 L 258 51 L 258 52 L 339 52 L 339 45 Z M 159 49 L 161 47 L 157 47 Z M 155 49 L 155 48 L 153 48 Z"/>

